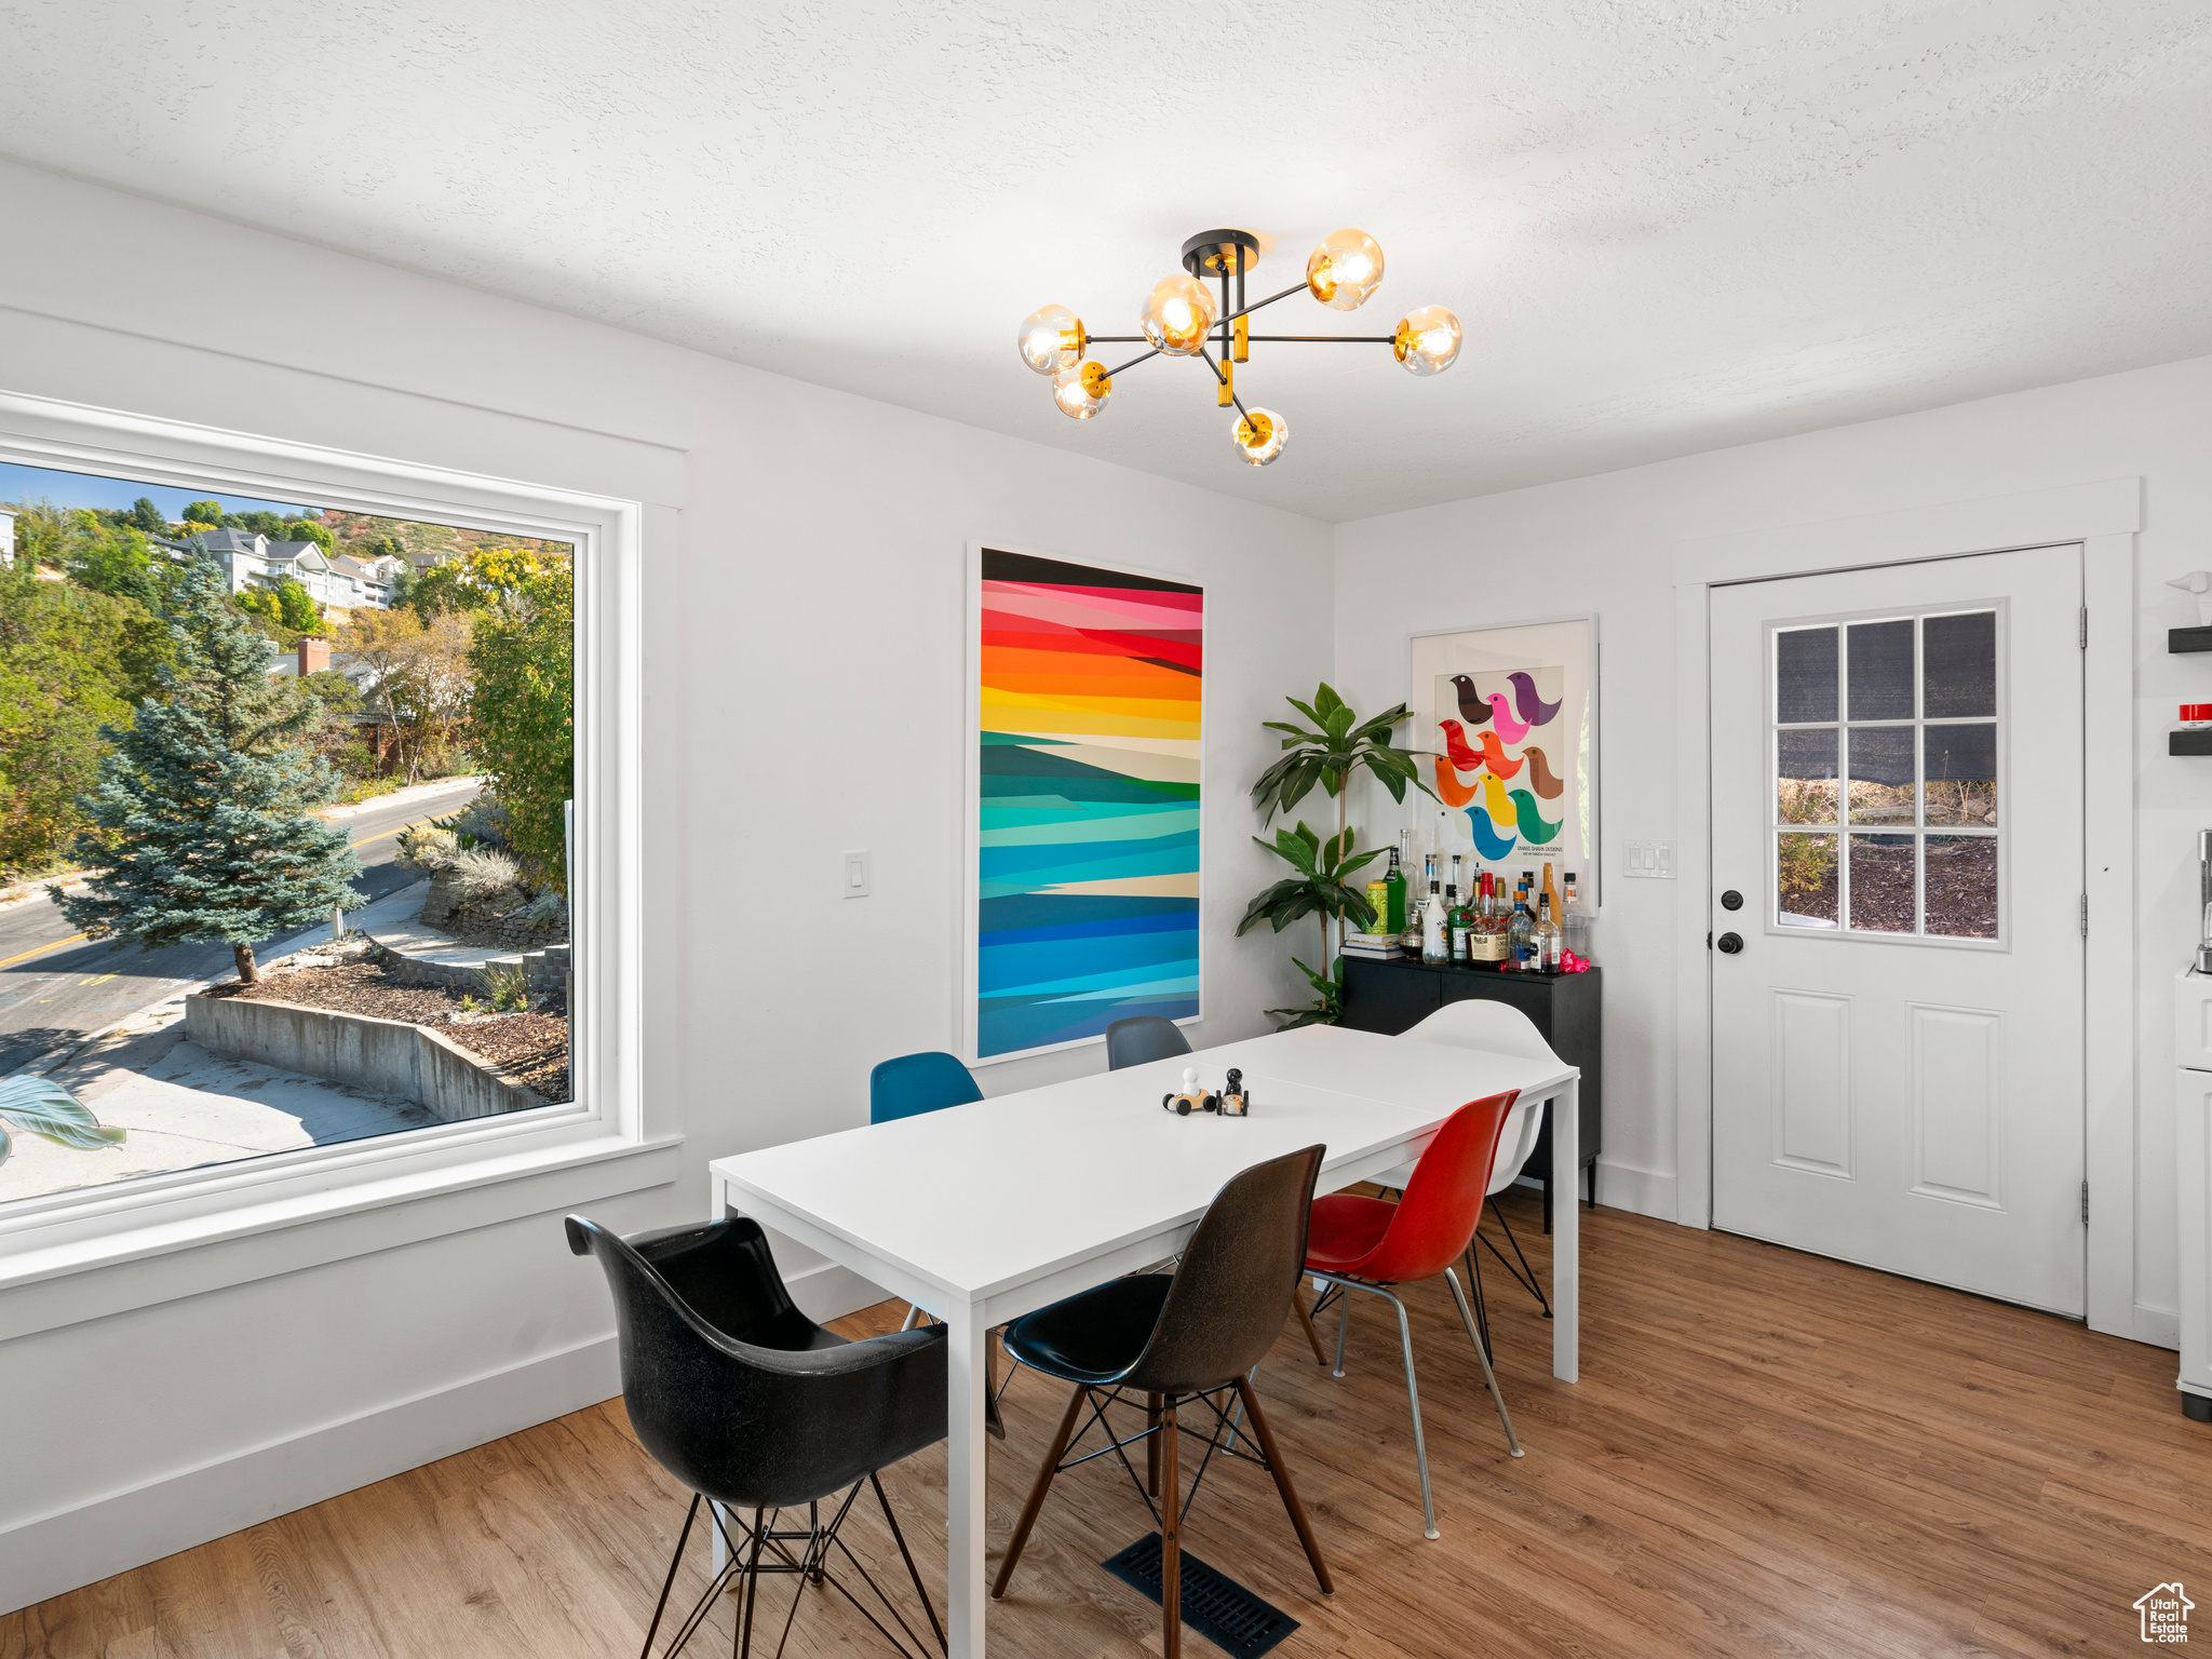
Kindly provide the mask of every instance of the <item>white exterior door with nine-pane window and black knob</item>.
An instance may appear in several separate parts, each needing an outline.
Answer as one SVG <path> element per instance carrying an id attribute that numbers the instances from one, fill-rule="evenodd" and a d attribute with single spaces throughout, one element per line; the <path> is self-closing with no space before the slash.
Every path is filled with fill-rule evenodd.
<path id="1" fill-rule="evenodd" d="M 2084 1314 L 2079 626 L 2079 546 L 1712 591 L 1717 1225 Z"/>

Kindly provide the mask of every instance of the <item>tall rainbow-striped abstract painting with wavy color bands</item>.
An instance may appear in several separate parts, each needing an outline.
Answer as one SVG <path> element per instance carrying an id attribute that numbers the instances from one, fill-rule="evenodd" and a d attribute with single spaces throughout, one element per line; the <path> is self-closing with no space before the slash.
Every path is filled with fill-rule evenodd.
<path id="1" fill-rule="evenodd" d="M 969 1055 L 1199 1013 L 1206 593 L 975 549 Z"/>

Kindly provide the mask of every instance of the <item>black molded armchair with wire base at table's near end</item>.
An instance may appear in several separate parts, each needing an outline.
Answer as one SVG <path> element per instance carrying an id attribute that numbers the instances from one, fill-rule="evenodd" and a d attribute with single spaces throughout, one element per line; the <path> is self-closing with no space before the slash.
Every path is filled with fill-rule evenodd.
<path id="1" fill-rule="evenodd" d="M 832 1551 L 845 1553 L 891 1621 L 927 1655 L 927 1644 L 841 1537 L 860 1486 L 874 1486 L 942 1648 L 945 1630 L 876 1471 L 945 1438 L 945 1327 L 867 1343 L 825 1332 L 792 1305 L 761 1225 L 741 1217 L 628 1239 L 568 1217 L 568 1250 L 597 1256 L 615 1292 L 622 1402 L 639 1442 L 692 1491 L 644 1655 L 653 1652 L 701 1502 L 710 1504 L 710 1524 L 723 1528 L 730 1562 L 684 1619 L 668 1655 L 690 1641 L 732 1579 L 737 1652 L 750 1655 L 763 1573 L 827 1584 L 894 1648 L 909 1652 L 830 1571 Z M 779 1511 L 799 1506 L 807 1524 L 779 1528 Z M 750 1511 L 752 1520 L 726 1511 Z M 794 1590 L 779 1655 L 799 1599 Z"/>

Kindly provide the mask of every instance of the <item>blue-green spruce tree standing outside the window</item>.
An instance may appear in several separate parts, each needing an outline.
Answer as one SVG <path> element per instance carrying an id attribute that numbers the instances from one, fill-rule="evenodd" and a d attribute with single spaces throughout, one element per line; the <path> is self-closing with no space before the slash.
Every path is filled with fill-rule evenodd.
<path id="1" fill-rule="evenodd" d="M 168 604 L 175 661 L 82 796 L 97 832 L 75 856 L 102 869 L 84 896 L 46 891 L 93 938 L 142 949 L 230 945 L 252 984 L 254 940 L 354 907 L 361 860 L 345 830 L 307 816 L 338 774 L 301 739 L 321 710 L 272 679 L 261 635 L 232 606 L 212 560 L 177 580 Z"/>

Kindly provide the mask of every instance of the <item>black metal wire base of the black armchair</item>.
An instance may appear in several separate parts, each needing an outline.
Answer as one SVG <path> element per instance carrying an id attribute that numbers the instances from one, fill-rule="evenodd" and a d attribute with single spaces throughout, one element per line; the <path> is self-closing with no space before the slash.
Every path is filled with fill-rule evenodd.
<path id="1" fill-rule="evenodd" d="M 876 1491 L 876 1504 L 880 1504 L 883 1520 L 889 1524 L 891 1537 L 898 1542 L 898 1555 L 907 1564 L 907 1577 L 914 1579 L 914 1595 L 920 1597 L 922 1613 L 929 1615 L 929 1632 L 936 1637 L 936 1652 L 942 1655 L 947 1650 L 945 1626 L 938 1621 L 938 1610 L 929 1601 L 929 1590 L 922 1588 L 922 1575 L 914 1566 L 914 1551 L 907 1548 L 907 1535 L 898 1528 L 898 1515 L 891 1513 L 891 1500 L 885 1495 L 883 1482 L 876 1475 L 865 1475 L 863 1480 L 856 1480 L 852 1491 L 836 1502 L 836 1511 L 827 1517 L 827 1522 L 823 1520 L 818 1502 L 807 1504 L 805 1526 L 776 1526 L 783 1515 L 781 1509 L 765 1513 L 754 1509 L 752 1524 L 745 1524 L 743 1520 L 726 1517 L 721 1504 L 708 1504 L 710 1524 L 721 1533 L 728 1562 L 719 1573 L 714 1573 L 706 1593 L 692 1604 L 692 1610 L 684 1617 L 681 1628 L 675 1639 L 670 1639 L 661 1659 L 675 1659 L 675 1655 L 684 1650 L 699 1626 L 706 1624 L 706 1615 L 714 1608 L 714 1601 L 719 1601 L 723 1593 L 739 1599 L 737 1639 L 732 1652 L 737 1659 L 750 1659 L 754 1615 L 761 1606 L 761 1577 L 779 1573 L 794 1577 L 796 1584 L 792 1586 L 792 1606 L 783 1615 L 783 1632 L 776 1637 L 776 1652 L 772 1659 L 783 1659 L 783 1644 L 792 1637 L 792 1621 L 799 1617 L 799 1601 L 807 1584 L 827 1586 L 852 1601 L 860 1617 L 876 1626 L 900 1659 L 931 1659 L 931 1648 L 914 1632 L 891 1597 L 880 1584 L 876 1584 L 876 1577 L 867 1571 L 860 1557 L 852 1553 L 852 1546 L 845 1544 L 845 1517 L 852 1513 L 852 1504 L 860 1495 L 863 1486 L 874 1486 Z M 677 1568 L 684 1564 L 684 1546 L 690 1542 L 692 1524 L 699 1520 L 701 1504 L 706 1504 L 706 1498 L 701 1493 L 692 1493 L 690 1511 L 684 1515 L 684 1531 L 677 1535 L 677 1548 L 668 1557 L 668 1577 L 661 1582 L 661 1599 L 653 1608 L 653 1624 L 646 1628 L 646 1646 L 639 1650 L 639 1659 L 653 1659 L 653 1639 L 659 1635 L 661 1619 L 668 1613 L 668 1595 L 675 1590 Z M 794 1544 L 799 1546 L 796 1555 L 792 1553 Z M 852 1571 L 860 1575 L 860 1582 L 876 1593 L 876 1599 L 883 1604 L 883 1610 L 891 1615 L 891 1621 L 898 1626 L 905 1641 L 894 1637 L 889 1626 L 885 1626 L 883 1619 L 878 1619 L 867 1604 L 860 1601 L 860 1597 L 856 1597 L 845 1582 L 830 1571 L 832 1551 L 841 1551 L 852 1564 Z M 763 1562 L 763 1553 L 770 1559 Z M 914 1646 L 909 1648 L 907 1644 Z"/>

